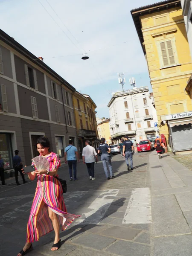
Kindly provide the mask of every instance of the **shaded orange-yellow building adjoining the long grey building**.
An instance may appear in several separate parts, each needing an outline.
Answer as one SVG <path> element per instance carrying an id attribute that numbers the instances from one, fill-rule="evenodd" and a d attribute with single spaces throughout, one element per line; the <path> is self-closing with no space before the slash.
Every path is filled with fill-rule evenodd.
<path id="1" fill-rule="evenodd" d="M 79 153 L 81 155 L 85 146 L 85 140 L 90 140 L 92 143 L 91 145 L 94 148 L 99 146 L 95 116 L 95 109 L 97 106 L 89 95 L 75 91 L 73 93 L 73 107 L 79 143 Z"/>

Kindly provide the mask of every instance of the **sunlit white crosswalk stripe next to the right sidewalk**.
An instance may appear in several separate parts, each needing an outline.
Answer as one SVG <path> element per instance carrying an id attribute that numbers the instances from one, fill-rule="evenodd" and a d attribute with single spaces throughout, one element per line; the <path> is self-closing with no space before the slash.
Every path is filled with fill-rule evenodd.
<path id="1" fill-rule="evenodd" d="M 149 188 L 132 190 L 122 224 L 151 223 L 151 191 Z"/>

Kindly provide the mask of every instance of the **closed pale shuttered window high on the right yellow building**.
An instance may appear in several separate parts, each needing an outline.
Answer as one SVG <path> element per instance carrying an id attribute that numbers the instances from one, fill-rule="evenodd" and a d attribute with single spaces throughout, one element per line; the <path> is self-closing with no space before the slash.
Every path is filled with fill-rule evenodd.
<path id="1" fill-rule="evenodd" d="M 160 63 L 162 67 L 176 64 L 176 54 L 174 51 L 174 38 L 160 42 Z"/>

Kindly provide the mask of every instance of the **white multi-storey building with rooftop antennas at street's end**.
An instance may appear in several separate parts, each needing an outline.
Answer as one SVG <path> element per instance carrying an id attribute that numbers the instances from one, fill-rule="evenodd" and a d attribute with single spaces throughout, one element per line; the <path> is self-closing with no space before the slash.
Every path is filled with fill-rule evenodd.
<path id="1" fill-rule="evenodd" d="M 114 93 L 108 108 L 111 139 L 114 143 L 118 143 L 125 135 L 137 143 L 157 136 L 157 113 L 148 87 Z"/>

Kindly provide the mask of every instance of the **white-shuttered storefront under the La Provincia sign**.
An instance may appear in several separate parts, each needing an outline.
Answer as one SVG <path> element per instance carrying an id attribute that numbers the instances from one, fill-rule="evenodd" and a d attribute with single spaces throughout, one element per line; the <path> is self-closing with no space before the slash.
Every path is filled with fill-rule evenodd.
<path id="1" fill-rule="evenodd" d="M 161 116 L 169 128 L 169 144 L 173 152 L 192 150 L 192 111 Z"/>

